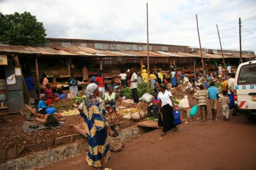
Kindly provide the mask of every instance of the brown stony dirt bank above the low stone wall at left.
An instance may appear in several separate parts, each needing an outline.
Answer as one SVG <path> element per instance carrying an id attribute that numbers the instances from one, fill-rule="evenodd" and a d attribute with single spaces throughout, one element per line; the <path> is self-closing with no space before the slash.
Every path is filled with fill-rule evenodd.
<path id="1" fill-rule="evenodd" d="M 4 124 L 0 124 L 0 148 L 2 149 L 11 148 L 15 145 L 35 144 L 42 140 L 77 134 L 77 131 L 70 125 L 84 122 L 84 119 L 79 115 L 67 116 L 63 126 L 57 130 L 43 129 L 34 132 L 22 132 L 22 124 L 27 121 L 24 116 L 21 114 L 9 114 L 3 116 L 3 118 L 6 121 Z M 34 121 L 38 124 L 44 124 L 43 122 Z"/>

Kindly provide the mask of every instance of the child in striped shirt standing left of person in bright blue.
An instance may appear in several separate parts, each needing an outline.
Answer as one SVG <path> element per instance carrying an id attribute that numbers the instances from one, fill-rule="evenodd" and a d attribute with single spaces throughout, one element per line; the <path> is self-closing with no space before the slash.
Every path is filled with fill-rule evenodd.
<path id="1" fill-rule="evenodd" d="M 204 90 L 203 84 L 199 85 L 200 90 L 197 91 L 196 97 L 197 97 L 197 103 L 200 109 L 200 115 L 201 115 L 201 122 L 203 122 L 203 108 L 205 111 L 205 120 L 207 120 L 207 96 L 208 93 Z"/>

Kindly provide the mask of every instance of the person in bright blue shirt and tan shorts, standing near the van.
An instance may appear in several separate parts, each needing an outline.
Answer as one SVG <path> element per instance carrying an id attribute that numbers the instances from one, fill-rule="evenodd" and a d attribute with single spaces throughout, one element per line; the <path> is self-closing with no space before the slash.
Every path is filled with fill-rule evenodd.
<path id="1" fill-rule="evenodd" d="M 218 121 L 218 119 L 216 119 L 216 115 L 217 115 L 219 91 L 218 91 L 218 88 L 214 86 L 214 81 L 211 81 L 210 85 L 211 87 L 207 89 L 207 93 L 209 94 L 209 97 L 210 97 L 210 103 L 212 108 L 212 120 L 216 122 Z"/>

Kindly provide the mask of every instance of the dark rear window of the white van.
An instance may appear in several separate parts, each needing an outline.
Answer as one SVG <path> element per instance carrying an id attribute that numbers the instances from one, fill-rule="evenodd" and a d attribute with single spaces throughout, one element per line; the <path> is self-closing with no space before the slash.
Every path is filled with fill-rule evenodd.
<path id="1" fill-rule="evenodd" d="M 256 84 L 256 63 L 251 65 L 244 65 L 240 69 L 237 79 L 238 85 Z"/>

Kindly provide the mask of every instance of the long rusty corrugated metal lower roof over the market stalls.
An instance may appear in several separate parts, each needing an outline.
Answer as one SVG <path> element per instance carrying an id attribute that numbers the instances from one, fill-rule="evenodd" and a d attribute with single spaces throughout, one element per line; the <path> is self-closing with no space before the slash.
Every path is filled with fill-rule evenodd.
<path id="1" fill-rule="evenodd" d="M 88 57 L 146 57 L 147 51 L 133 50 L 96 50 L 84 46 L 9 46 L 0 45 L 0 53 L 5 54 L 36 54 L 38 56 L 88 56 Z M 164 52 L 153 51 L 149 52 L 150 57 L 167 58 L 167 57 L 201 57 L 200 52 L 193 53 L 185 52 Z M 243 58 L 255 58 L 253 54 L 243 54 Z M 222 58 L 222 54 L 214 52 L 208 54 L 203 52 L 203 58 Z M 225 53 L 224 58 L 239 58 L 239 54 Z"/>

